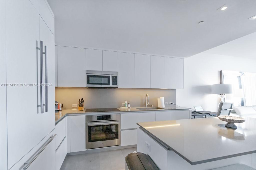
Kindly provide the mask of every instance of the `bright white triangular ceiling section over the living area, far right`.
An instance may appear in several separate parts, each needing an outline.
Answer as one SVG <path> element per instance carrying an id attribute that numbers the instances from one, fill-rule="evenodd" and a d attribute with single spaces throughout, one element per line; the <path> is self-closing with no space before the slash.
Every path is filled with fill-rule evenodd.
<path id="1" fill-rule="evenodd" d="M 205 52 L 256 59 L 256 32 L 219 45 Z"/>

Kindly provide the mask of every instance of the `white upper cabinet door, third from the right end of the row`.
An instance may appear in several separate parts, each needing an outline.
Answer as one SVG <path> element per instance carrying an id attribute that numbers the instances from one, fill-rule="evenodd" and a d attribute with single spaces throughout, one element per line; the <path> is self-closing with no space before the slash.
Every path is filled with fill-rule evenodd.
<path id="1" fill-rule="evenodd" d="M 135 54 L 135 88 L 150 88 L 150 55 Z"/>

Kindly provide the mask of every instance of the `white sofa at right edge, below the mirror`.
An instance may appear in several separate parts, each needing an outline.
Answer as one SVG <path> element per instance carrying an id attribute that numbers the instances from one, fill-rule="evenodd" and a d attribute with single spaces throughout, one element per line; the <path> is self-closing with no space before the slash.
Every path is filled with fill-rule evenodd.
<path id="1" fill-rule="evenodd" d="M 237 106 L 234 107 L 236 114 L 231 113 L 230 116 L 245 116 L 256 118 L 256 106 Z"/>

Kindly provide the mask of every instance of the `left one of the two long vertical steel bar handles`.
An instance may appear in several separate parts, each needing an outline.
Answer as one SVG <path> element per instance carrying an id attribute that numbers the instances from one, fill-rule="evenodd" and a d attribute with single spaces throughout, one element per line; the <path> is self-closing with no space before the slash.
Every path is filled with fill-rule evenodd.
<path id="1" fill-rule="evenodd" d="M 39 48 L 36 48 L 37 50 L 39 50 L 40 52 L 40 104 L 37 105 L 37 107 L 40 107 L 41 113 L 44 113 L 44 96 L 43 96 L 43 88 L 44 86 L 42 86 L 43 84 L 43 42 L 40 41 L 40 45 Z"/>

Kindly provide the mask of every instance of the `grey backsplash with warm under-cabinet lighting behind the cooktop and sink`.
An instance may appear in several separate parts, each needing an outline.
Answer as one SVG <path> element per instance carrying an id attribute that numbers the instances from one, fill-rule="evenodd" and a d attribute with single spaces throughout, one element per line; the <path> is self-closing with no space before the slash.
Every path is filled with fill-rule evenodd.
<path id="1" fill-rule="evenodd" d="M 157 106 L 157 98 L 164 97 L 165 102 L 176 103 L 175 89 L 92 89 L 92 88 L 55 88 L 55 101 L 63 103 L 63 109 L 71 109 L 84 99 L 84 108 L 120 107 L 125 100 L 131 107 L 144 107 L 145 96 L 149 95 L 150 104 Z"/>

